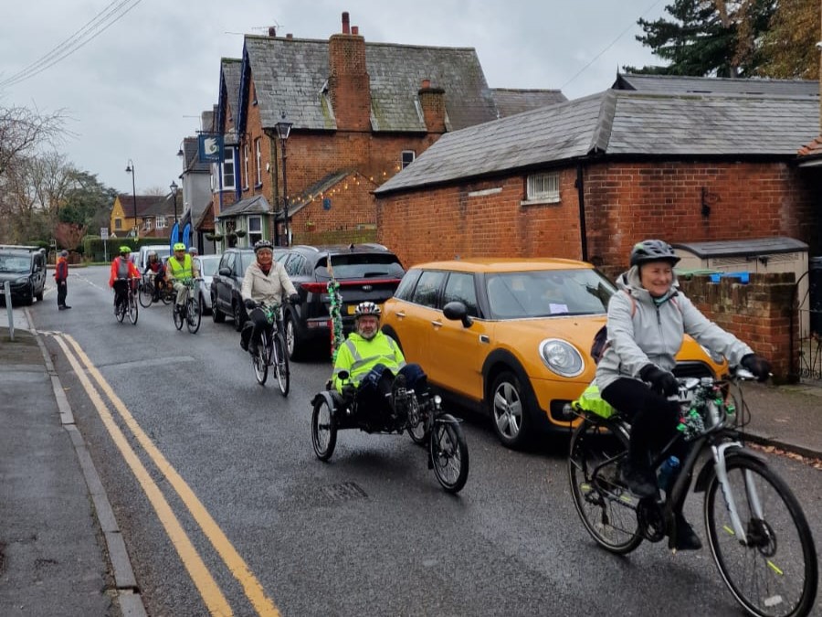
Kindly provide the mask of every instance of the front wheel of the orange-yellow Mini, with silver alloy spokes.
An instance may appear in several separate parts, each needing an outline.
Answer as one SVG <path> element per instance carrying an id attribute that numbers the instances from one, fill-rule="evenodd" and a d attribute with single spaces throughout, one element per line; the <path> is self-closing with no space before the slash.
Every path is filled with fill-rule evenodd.
<path id="1" fill-rule="evenodd" d="M 494 431 L 505 447 L 517 450 L 532 438 L 532 399 L 530 386 L 511 371 L 494 379 L 488 405 Z"/>

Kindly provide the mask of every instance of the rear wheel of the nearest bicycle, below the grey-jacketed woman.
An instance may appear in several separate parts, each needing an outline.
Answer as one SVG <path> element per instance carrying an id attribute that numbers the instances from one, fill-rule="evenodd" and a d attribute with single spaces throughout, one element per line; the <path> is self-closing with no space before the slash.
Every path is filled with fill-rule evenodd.
<path id="1" fill-rule="evenodd" d="M 608 420 L 585 418 L 571 437 L 568 479 L 576 512 L 596 543 L 617 555 L 639 546 L 638 497 L 619 484 L 627 434 Z"/>

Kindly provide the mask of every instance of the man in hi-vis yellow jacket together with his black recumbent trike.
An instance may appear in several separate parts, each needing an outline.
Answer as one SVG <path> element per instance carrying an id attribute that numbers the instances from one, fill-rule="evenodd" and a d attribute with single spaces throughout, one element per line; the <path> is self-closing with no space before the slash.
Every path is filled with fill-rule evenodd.
<path id="1" fill-rule="evenodd" d="M 422 368 L 406 364 L 395 341 L 380 332 L 379 317 L 376 304 L 357 305 L 354 332 L 337 352 L 332 379 L 311 400 L 314 453 L 328 461 L 342 429 L 407 431 L 416 443 L 427 445 L 428 468 L 439 484 L 457 493 L 469 473 L 468 445 L 459 420 L 442 410 Z"/>

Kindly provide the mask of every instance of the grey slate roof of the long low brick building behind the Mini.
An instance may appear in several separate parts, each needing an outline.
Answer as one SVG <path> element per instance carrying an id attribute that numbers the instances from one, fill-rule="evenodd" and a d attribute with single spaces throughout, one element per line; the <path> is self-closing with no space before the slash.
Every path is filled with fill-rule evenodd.
<path id="1" fill-rule="evenodd" d="M 793 159 L 819 132 L 810 97 L 606 90 L 446 133 L 375 193 L 546 167 L 591 155 Z"/>

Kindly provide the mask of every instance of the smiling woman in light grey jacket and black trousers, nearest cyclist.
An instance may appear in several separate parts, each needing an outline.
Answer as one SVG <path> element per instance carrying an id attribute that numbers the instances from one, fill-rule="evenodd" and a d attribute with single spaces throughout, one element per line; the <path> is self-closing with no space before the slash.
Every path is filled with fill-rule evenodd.
<path id="1" fill-rule="evenodd" d="M 671 372 L 685 334 L 742 365 L 757 378 L 768 378 L 771 366 L 736 336 L 711 323 L 679 292 L 673 267 L 680 261 L 667 242 L 648 239 L 631 250 L 630 269 L 619 276 L 608 303 L 607 348 L 596 367 L 601 396 L 631 422 L 627 461 L 621 477 L 636 495 L 656 494 L 657 477 L 650 453 L 661 450 L 676 434 L 680 407 L 669 396 L 678 384 Z M 648 385 L 650 388 L 648 388 Z M 687 452 L 680 441 L 684 459 Z M 701 548 L 699 537 L 681 515 L 678 504 L 677 548 Z"/>

